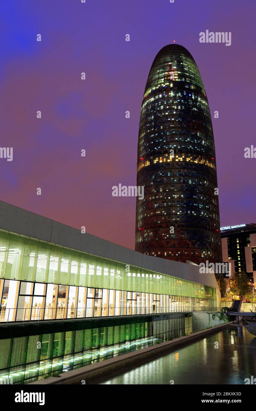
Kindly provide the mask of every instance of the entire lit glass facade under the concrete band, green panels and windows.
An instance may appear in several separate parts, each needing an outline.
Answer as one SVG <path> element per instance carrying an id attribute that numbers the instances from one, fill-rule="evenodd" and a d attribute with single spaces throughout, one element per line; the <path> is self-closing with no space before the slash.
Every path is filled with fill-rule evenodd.
<path id="1" fill-rule="evenodd" d="M 129 263 L 129 262 L 128 262 Z M 216 289 L 0 230 L 0 321 L 122 316 L 216 305 Z"/>

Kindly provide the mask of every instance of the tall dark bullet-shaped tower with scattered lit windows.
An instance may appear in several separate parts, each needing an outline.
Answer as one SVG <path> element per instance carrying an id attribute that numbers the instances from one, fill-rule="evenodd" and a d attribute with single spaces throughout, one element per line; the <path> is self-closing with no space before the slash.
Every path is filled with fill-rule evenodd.
<path id="1" fill-rule="evenodd" d="M 136 245 L 143 254 L 221 262 L 214 137 L 198 67 L 163 47 L 148 75 L 138 133 Z"/>

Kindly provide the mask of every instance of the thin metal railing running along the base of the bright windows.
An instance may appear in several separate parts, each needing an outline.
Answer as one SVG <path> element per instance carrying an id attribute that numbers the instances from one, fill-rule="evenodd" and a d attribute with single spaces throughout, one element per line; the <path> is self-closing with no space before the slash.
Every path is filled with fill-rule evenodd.
<path id="1" fill-rule="evenodd" d="M 222 307 L 182 305 L 171 307 L 45 307 L 0 308 L 0 323 L 105 318 L 148 314 L 178 314 L 182 312 L 218 312 Z"/>

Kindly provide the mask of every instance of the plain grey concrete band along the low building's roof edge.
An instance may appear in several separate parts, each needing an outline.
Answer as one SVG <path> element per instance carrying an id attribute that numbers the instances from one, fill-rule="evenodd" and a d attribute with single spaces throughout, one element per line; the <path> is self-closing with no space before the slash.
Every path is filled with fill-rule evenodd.
<path id="1" fill-rule="evenodd" d="M 199 266 L 194 264 L 146 256 L 3 201 L 0 201 L 0 229 L 214 287 L 219 306 L 220 293 L 214 274 L 201 274 Z"/>

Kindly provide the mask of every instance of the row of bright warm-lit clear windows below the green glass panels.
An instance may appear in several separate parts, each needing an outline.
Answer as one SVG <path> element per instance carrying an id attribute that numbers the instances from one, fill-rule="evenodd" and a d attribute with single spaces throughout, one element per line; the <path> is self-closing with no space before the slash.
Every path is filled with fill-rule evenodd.
<path id="1" fill-rule="evenodd" d="M 201 311 L 211 298 L 41 284 L 0 279 L 0 322 Z"/>

